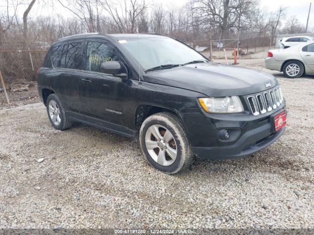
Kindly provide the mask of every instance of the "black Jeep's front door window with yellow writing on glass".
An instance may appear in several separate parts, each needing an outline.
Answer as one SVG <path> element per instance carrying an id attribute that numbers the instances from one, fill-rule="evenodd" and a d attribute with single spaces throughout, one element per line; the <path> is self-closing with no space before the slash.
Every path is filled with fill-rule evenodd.
<path id="1" fill-rule="evenodd" d="M 100 72 L 102 63 L 120 61 L 113 47 L 101 42 L 88 42 L 86 53 L 86 70 Z"/>

